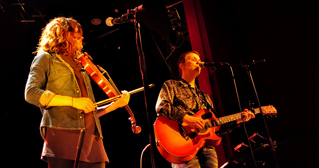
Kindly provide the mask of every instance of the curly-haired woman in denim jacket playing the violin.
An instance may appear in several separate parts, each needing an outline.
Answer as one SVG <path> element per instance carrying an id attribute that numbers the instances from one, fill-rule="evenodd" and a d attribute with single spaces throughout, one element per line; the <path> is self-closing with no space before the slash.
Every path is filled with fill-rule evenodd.
<path id="1" fill-rule="evenodd" d="M 57 17 L 43 28 L 25 86 L 25 100 L 40 108 L 41 159 L 49 168 L 73 168 L 81 130 L 85 130 L 79 168 L 105 168 L 109 162 L 99 117 L 128 104 L 130 95 L 95 107 L 89 75 L 76 60 L 83 48 L 82 28 Z"/>

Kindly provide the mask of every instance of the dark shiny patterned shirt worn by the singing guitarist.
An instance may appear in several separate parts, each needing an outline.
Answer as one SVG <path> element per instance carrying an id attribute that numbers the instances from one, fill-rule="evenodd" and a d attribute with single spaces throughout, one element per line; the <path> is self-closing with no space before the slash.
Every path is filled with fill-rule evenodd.
<path id="1" fill-rule="evenodd" d="M 212 111 L 218 118 L 218 114 L 213 109 L 213 103 L 207 93 L 192 88 L 185 80 L 167 80 L 162 85 L 160 95 L 156 104 L 158 115 L 163 115 L 170 120 L 182 123 L 183 117 L 196 114 L 201 109 Z M 218 133 L 228 133 L 235 127 L 236 122 L 224 124 Z"/>

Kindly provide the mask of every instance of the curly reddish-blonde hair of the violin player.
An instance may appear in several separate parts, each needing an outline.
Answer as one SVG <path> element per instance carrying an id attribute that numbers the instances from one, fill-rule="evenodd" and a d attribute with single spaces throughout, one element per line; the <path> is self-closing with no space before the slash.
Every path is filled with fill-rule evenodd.
<path id="1" fill-rule="evenodd" d="M 77 30 L 77 31 L 76 31 Z M 83 35 L 80 23 L 72 17 L 56 17 L 42 29 L 37 50 L 34 52 L 49 52 L 73 56 L 76 54 L 76 40 Z"/>

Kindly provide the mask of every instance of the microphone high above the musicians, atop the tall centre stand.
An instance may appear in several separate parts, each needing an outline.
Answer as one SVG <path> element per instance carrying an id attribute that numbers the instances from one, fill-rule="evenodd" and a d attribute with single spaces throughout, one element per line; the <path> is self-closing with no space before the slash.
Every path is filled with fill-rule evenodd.
<path id="1" fill-rule="evenodd" d="M 109 18 L 107 18 L 105 20 L 105 23 L 108 26 L 113 26 L 114 24 L 121 24 L 121 23 L 130 22 L 130 21 L 132 21 L 132 19 L 128 19 L 128 17 L 130 15 L 134 14 L 135 12 L 142 11 L 145 8 L 146 8 L 145 4 L 141 4 L 141 5 L 139 5 L 138 7 L 134 8 L 134 9 L 128 10 L 128 13 L 123 14 L 120 17 L 117 17 L 117 18 L 109 17 Z"/>

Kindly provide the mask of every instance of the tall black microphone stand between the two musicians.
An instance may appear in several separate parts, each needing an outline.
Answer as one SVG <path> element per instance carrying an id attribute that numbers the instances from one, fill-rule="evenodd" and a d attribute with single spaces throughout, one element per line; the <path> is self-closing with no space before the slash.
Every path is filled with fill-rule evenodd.
<path id="1" fill-rule="evenodd" d="M 144 98 L 145 98 L 145 105 L 146 105 L 146 113 L 147 113 L 147 118 L 148 118 L 148 126 L 149 126 L 149 133 L 150 133 L 150 149 L 151 149 L 151 163 L 152 163 L 152 168 L 155 168 L 155 161 L 154 161 L 154 152 L 153 152 L 153 142 L 155 142 L 155 136 L 153 136 L 154 133 L 153 129 L 151 129 L 151 124 L 150 124 L 150 115 L 149 115 L 149 110 L 148 110 L 148 96 L 149 96 L 149 82 L 147 78 L 147 68 L 146 68 L 146 61 L 145 61 L 145 55 L 143 52 L 143 45 L 142 45 L 142 38 L 141 38 L 141 25 L 137 21 L 137 12 L 135 11 L 134 13 L 134 24 L 135 24 L 135 29 L 136 29 L 136 45 L 138 49 L 138 54 L 139 54 L 139 59 L 140 59 L 140 70 L 142 74 L 142 80 L 143 80 L 143 86 L 144 86 Z M 142 167 L 142 166 L 141 166 Z"/>

